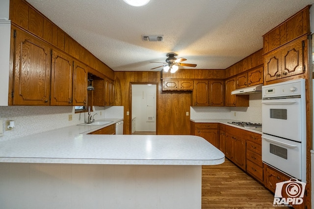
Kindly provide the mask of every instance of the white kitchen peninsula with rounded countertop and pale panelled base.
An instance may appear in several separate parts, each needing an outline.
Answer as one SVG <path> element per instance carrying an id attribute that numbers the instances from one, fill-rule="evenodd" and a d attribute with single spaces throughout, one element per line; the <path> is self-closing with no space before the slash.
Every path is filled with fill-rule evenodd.
<path id="1" fill-rule="evenodd" d="M 71 126 L 0 142 L 1 208 L 201 208 L 202 165 L 224 162 L 198 136 L 92 131 Z"/>

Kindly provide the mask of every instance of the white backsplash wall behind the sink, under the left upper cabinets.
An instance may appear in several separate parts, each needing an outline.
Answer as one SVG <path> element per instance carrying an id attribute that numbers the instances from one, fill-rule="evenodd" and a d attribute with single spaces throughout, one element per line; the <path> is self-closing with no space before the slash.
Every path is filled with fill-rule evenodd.
<path id="1" fill-rule="evenodd" d="M 104 118 L 123 118 L 123 106 L 94 106 L 95 120 Z M 72 114 L 72 121 L 69 115 Z M 87 113 L 74 113 L 73 106 L 0 106 L 3 136 L 0 141 L 26 135 L 51 131 L 63 127 L 85 123 Z M 14 120 L 15 129 L 5 131 L 5 121 Z"/>

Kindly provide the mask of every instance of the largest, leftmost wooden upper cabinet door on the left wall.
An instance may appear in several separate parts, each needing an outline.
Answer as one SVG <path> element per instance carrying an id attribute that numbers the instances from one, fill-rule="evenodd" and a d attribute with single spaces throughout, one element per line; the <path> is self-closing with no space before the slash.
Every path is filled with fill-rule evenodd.
<path id="1" fill-rule="evenodd" d="M 49 105 L 51 49 L 16 30 L 13 105 Z"/>

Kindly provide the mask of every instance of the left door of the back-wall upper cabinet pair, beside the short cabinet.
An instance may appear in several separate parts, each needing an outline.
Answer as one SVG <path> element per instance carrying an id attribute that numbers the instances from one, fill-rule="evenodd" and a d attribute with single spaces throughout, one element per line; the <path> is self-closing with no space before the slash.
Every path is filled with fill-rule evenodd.
<path id="1" fill-rule="evenodd" d="M 194 89 L 192 93 L 192 105 L 194 106 L 208 106 L 208 80 L 195 80 Z"/>

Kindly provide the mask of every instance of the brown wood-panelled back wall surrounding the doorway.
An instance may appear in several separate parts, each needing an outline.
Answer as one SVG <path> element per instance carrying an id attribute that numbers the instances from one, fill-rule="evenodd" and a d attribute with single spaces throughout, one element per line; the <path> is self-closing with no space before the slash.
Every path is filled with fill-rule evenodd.
<path id="1" fill-rule="evenodd" d="M 190 134 L 191 91 L 161 91 L 160 72 L 115 72 L 115 105 L 124 106 L 124 133 L 131 134 L 131 84 L 157 84 L 157 134 Z M 130 115 L 127 115 L 127 111 Z"/>

